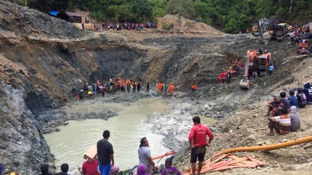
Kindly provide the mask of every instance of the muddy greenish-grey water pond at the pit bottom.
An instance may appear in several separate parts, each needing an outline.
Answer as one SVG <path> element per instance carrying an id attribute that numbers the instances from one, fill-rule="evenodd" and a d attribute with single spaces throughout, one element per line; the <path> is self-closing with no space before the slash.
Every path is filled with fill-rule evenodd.
<path id="1" fill-rule="evenodd" d="M 105 106 L 105 107 L 103 107 Z M 110 131 L 110 141 L 114 148 L 115 165 L 120 170 L 127 170 L 138 164 L 137 149 L 140 139 L 147 137 L 152 156 L 158 156 L 170 151 L 162 142 L 164 136 L 153 134 L 151 123 L 145 121 L 145 116 L 151 113 L 165 114 L 170 108 L 161 98 L 145 98 L 131 106 L 117 103 L 77 105 L 67 112 L 98 111 L 100 109 L 121 110 L 118 116 L 108 120 L 88 119 L 69 121 L 68 125 L 59 127 L 59 132 L 44 135 L 52 154 L 55 155 L 55 166 L 59 171 L 62 163 L 68 163 L 69 174 L 77 171 L 85 161 L 83 153 L 90 145 L 97 145 L 104 130 Z M 160 161 L 158 164 L 164 163 Z"/>

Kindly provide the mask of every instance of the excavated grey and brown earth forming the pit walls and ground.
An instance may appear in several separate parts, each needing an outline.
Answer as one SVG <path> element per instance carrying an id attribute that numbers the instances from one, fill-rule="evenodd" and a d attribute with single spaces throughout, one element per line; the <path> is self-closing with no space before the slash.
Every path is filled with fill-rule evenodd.
<path id="1" fill-rule="evenodd" d="M 216 30 L 90 32 L 7 1 L 0 1 L 0 17 L 0 163 L 5 163 L 5 172 L 35 175 L 43 163 L 55 168 L 42 134 L 59 131 L 58 126 L 67 120 L 116 116 L 116 112 L 108 110 L 65 112 L 80 102 L 72 88 L 81 89 L 83 82 L 116 76 L 140 80 L 142 86 L 151 82 L 154 92 L 156 83 L 151 78 L 175 83 L 172 97 L 119 93 L 114 100 L 105 101 L 110 98 L 106 97 L 84 102 L 131 105 L 141 98 L 163 97 L 172 109 L 164 115 L 151 114 L 146 120 L 153 124 L 152 132 L 166 136 L 159 141 L 178 150 L 174 164 L 182 171 L 190 167 L 187 135 L 192 115 L 204 121 L 207 117 L 216 119 L 209 126 L 215 139 L 206 158 L 229 148 L 311 136 L 311 106 L 298 110 L 302 123 L 298 132 L 265 136 L 268 128 L 263 115 L 267 102 L 312 79 L 312 57 L 295 55 L 288 38 L 263 45 L 252 35 L 227 35 Z M 231 84 L 216 84 L 216 75 L 226 70 L 229 57 L 244 61 L 247 49 L 264 47 L 277 62 L 277 71 L 271 77 L 252 81 L 250 90 L 239 88 L 241 72 L 233 76 Z M 199 87 L 196 92 L 190 91 L 193 83 Z M 236 152 L 236 156 L 250 155 L 265 165 L 211 174 L 308 175 L 311 166 L 299 166 L 312 161 L 312 149 L 303 149 L 307 145 L 269 152 Z"/>

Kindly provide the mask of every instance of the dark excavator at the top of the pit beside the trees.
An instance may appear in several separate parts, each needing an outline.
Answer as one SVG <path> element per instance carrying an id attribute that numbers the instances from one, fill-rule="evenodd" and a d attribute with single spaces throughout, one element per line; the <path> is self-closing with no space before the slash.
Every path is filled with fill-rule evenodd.
<path id="1" fill-rule="evenodd" d="M 260 40 L 262 41 L 267 28 L 269 29 L 268 34 L 271 36 L 270 39 L 277 39 L 278 41 L 282 41 L 286 37 L 286 34 L 292 30 L 292 26 L 287 23 L 277 24 L 272 19 L 258 19 L 258 31 L 253 35 L 260 35 Z"/>

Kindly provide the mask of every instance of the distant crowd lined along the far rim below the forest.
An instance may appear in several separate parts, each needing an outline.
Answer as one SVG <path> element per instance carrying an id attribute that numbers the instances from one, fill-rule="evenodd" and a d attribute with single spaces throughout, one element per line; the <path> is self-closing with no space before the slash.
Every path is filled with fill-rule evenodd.
<path id="1" fill-rule="evenodd" d="M 131 22 L 103 22 L 95 23 L 92 21 L 94 31 L 109 31 L 109 30 L 143 30 L 144 28 L 157 28 L 157 23 L 146 21 L 142 23 L 131 23 Z M 84 28 L 85 24 L 82 23 L 81 27 Z"/>

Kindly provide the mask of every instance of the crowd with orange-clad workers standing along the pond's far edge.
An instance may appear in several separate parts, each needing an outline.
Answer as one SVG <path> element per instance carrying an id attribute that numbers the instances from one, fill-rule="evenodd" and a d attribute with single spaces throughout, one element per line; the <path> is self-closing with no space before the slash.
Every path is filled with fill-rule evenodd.
<path id="1" fill-rule="evenodd" d="M 141 93 L 141 90 L 145 91 L 145 93 L 149 93 L 150 91 L 150 82 L 146 84 L 145 87 L 141 87 L 141 83 L 139 81 L 132 81 L 130 78 L 127 78 L 126 81 L 121 77 L 118 77 L 114 80 L 109 79 L 107 82 L 101 82 L 99 79 L 93 85 L 87 84 L 84 82 L 83 87 L 77 93 L 78 99 L 84 99 L 84 94 L 87 94 L 89 99 L 96 96 L 105 97 L 105 92 L 109 95 L 116 95 L 117 91 L 130 93 Z M 173 82 L 169 85 L 169 92 L 172 96 L 175 90 L 175 85 Z M 168 84 L 163 82 L 158 82 L 157 84 L 157 94 L 167 95 L 168 92 Z"/>

